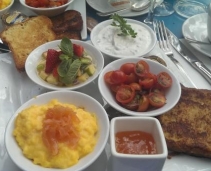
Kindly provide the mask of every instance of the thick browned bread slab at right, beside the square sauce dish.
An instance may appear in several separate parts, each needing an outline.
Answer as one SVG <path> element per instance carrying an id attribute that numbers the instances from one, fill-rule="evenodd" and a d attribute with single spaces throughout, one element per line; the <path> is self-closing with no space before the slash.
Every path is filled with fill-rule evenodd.
<path id="1" fill-rule="evenodd" d="M 157 117 L 168 149 L 211 158 L 211 91 L 182 87 L 178 104 Z"/>

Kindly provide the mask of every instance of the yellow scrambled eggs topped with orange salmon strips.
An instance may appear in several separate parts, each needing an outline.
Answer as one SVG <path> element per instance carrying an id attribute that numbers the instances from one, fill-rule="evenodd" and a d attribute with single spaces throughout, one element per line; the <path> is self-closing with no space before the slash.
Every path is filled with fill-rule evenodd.
<path id="1" fill-rule="evenodd" d="M 95 114 L 53 99 L 21 111 L 13 135 L 34 164 L 64 169 L 93 151 L 97 132 Z"/>

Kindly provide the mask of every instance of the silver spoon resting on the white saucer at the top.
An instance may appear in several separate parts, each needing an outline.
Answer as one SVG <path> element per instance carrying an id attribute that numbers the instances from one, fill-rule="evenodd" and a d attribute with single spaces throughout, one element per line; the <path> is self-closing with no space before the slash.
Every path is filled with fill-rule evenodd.
<path id="1" fill-rule="evenodd" d="M 142 11 L 149 7 L 150 1 L 149 0 L 142 0 L 135 2 L 134 4 L 130 5 L 130 7 L 126 7 L 123 9 L 118 9 L 110 12 L 98 12 L 97 15 L 101 17 L 106 17 L 114 13 L 122 12 L 128 9 L 131 9 L 132 11 Z"/>

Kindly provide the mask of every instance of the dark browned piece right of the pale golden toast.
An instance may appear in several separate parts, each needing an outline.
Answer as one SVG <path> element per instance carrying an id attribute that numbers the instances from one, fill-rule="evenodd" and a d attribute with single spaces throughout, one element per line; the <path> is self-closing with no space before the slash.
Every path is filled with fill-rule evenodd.
<path id="1" fill-rule="evenodd" d="M 62 14 L 50 18 L 57 39 L 68 37 L 81 40 L 83 19 L 81 13 L 76 10 L 67 10 Z"/>

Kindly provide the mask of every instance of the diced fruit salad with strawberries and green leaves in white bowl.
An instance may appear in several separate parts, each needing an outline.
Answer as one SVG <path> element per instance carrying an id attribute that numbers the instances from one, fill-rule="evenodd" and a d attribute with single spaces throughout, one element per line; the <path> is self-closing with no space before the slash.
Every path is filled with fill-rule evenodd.
<path id="1" fill-rule="evenodd" d="M 58 86 L 74 86 L 95 73 L 92 57 L 83 46 L 73 44 L 68 38 L 63 38 L 58 46 L 60 49 L 43 52 L 37 65 L 38 75 L 43 80 Z"/>

